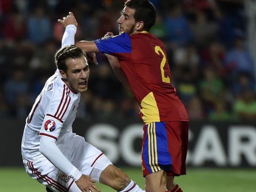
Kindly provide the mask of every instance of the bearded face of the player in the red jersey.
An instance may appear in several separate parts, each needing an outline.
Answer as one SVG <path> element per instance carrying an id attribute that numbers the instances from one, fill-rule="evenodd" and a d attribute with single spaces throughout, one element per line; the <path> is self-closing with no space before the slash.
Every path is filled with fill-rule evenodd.
<path id="1" fill-rule="evenodd" d="M 135 18 L 134 18 L 135 9 L 131 9 L 127 6 L 122 10 L 121 17 L 117 20 L 119 24 L 119 31 L 126 32 L 129 35 L 135 32 Z"/>

